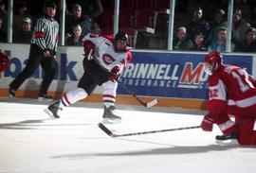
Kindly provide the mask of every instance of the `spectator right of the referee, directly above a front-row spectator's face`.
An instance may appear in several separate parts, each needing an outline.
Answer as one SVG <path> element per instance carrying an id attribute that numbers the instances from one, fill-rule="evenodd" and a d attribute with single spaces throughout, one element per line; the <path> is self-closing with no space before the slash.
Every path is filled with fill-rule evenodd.
<path id="1" fill-rule="evenodd" d="M 82 15 L 82 7 L 79 4 L 74 4 L 71 9 L 71 15 L 66 17 L 65 21 L 65 33 L 66 37 L 71 37 L 73 28 L 72 26 L 76 26 L 84 20 L 84 16 Z"/>

